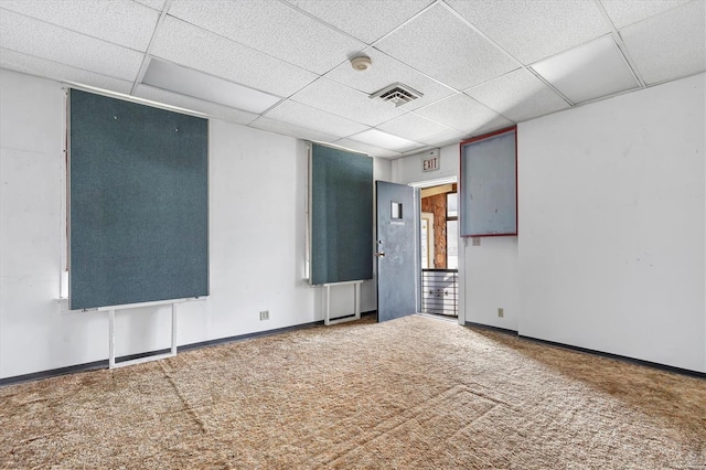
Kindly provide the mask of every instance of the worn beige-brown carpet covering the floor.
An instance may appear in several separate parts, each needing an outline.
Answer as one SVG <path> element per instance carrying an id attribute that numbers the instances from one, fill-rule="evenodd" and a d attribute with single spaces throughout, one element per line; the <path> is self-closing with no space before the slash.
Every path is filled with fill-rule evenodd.
<path id="1" fill-rule="evenodd" d="M 706 381 L 415 316 L 0 388 L 0 468 L 706 469 Z"/>

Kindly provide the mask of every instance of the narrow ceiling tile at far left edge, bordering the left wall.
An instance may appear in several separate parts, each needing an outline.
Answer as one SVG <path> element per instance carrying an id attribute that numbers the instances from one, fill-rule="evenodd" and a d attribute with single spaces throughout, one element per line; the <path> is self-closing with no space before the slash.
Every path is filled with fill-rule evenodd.
<path id="1" fill-rule="evenodd" d="M 77 85 L 93 86 L 110 92 L 129 94 L 132 82 L 83 71 L 81 68 L 60 64 L 58 62 L 34 57 L 20 52 L 0 47 L 0 68 L 23 72 L 61 82 L 72 82 Z"/>

